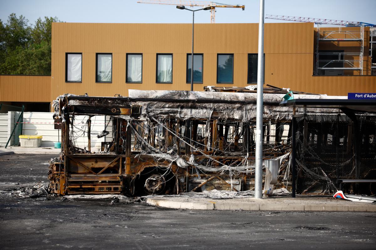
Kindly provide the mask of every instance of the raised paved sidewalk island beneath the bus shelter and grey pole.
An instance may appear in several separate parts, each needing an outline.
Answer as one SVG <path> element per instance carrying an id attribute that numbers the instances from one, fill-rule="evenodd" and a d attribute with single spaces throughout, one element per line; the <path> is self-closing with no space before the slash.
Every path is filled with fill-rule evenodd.
<path id="1" fill-rule="evenodd" d="M 201 210 L 265 211 L 362 211 L 376 212 L 376 203 L 352 202 L 331 197 L 280 197 L 255 199 L 210 199 L 191 197 L 151 197 L 148 204 L 165 208 Z"/>

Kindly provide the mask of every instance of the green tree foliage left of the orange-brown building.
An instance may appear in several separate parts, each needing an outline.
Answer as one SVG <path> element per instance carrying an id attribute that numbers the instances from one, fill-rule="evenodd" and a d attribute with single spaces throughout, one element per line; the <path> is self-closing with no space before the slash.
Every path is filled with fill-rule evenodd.
<path id="1" fill-rule="evenodd" d="M 35 25 L 15 13 L 0 19 L 0 74 L 51 75 L 52 22 L 59 19 L 45 16 Z"/>

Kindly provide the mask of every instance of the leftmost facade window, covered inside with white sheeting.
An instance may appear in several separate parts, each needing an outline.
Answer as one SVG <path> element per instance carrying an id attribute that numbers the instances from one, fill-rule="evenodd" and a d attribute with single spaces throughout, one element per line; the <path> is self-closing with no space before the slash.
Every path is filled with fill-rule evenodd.
<path id="1" fill-rule="evenodd" d="M 65 81 L 82 82 L 82 53 L 65 54 Z"/>

